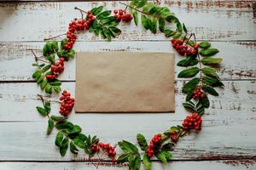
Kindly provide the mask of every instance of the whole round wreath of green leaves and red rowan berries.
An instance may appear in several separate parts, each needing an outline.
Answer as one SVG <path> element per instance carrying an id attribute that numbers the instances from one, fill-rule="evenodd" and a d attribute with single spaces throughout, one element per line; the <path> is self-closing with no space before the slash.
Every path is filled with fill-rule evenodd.
<path id="1" fill-rule="evenodd" d="M 160 7 L 159 2 L 148 3 L 147 0 L 132 0 L 125 4 L 125 9 L 104 10 L 103 6 L 84 11 L 75 8 L 81 13 L 81 19 L 72 20 L 68 26 L 68 31 L 61 43 L 50 37 L 46 40 L 42 56 L 37 56 L 33 51 L 35 62 L 32 64 L 36 71 L 32 77 L 46 94 L 60 93 L 61 81 L 57 79 L 64 71 L 64 63 L 73 58 L 75 51 L 73 44 L 76 42 L 77 34 L 81 31 L 93 32 L 96 36 L 101 36 L 108 41 L 117 37 L 121 30 L 117 27 L 120 22 L 130 22 L 133 20 L 137 26 L 141 22 L 144 29 L 156 33 L 163 32 L 166 37 L 172 37 L 172 47 L 177 54 L 184 58 L 177 62 L 178 66 L 184 67 L 177 75 L 179 78 L 192 78 L 185 83 L 182 88 L 186 94 L 186 101 L 183 107 L 191 113 L 185 117 L 182 125 L 172 126 L 164 133 L 157 133 L 147 142 L 143 134 L 137 134 L 137 144 L 122 140 L 116 145 L 104 144 L 96 136 L 85 135 L 79 125 L 68 122 L 68 115 L 73 110 L 75 99 L 67 90 L 63 90 L 59 100 L 50 99 L 48 96 L 38 94 L 43 106 L 37 106 L 37 111 L 48 118 L 47 134 L 53 128 L 58 130 L 55 136 L 55 145 L 59 147 L 61 156 L 65 156 L 67 149 L 77 155 L 79 150 L 84 150 L 89 158 L 102 152 L 102 156 L 107 156 L 113 163 L 128 163 L 129 169 L 138 170 L 143 163 L 144 169 L 152 168 L 151 158 L 155 156 L 163 163 L 167 163 L 172 158 L 171 151 L 180 137 L 201 130 L 201 116 L 205 109 L 209 107 L 208 95 L 218 96 L 215 87 L 223 87 L 219 77 L 211 65 L 218 65 L 223 60 L 213 58 L 218 53 L 217 48 L 211 48 L 211 43 L 196 42 L 195 34 L 188 33 L 187 28 L 169 8 Z M 86 16 L 84 18 L 84 15 Z M 139 20 L 140 19 L 140 20 Z M 176 26 L 173 29 L 173 26 Z M 51 115 L 51 102 L 60 103 L 60 115 Z M 119 156 L 116 147 L 123 151 Z M 102 157 L 101 157 L 102 158 Z"/>

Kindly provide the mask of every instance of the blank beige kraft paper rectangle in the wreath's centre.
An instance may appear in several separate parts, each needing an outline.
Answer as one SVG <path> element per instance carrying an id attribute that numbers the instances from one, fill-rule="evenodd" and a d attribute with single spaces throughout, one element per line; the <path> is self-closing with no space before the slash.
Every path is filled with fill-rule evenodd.
<path id="1" fill-rule="evenodd" d="M 76 54 L 76 112 L 174 111 L 174 54 Z"/>

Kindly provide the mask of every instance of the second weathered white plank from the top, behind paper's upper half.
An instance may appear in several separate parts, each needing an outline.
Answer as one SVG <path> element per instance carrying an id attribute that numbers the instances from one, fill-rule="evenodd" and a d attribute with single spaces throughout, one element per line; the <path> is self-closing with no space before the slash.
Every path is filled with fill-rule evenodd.
<path id="1" fill-rule="evenodd" d="M 0 42 L 0 81 L 32 80 L 33 55 L 27 49 L 33 48 L 41 55 L 43 46 L 44 42 Z M 224 58 L 217 68 L 221 79 L 256 78 L 256 42 L 212 42 L 212 47 L 219 48 L 216 56 Z M 74 48 L 77 51 L 173 51 L 170 42 L 77 42 Z M 183 58 L 176 55 L 175 62 L 180 59 Z M 75 80 L 74 60 L 65 65 L 61 80 Z M 176 73 L 182 69 L 175 66 Z"/>

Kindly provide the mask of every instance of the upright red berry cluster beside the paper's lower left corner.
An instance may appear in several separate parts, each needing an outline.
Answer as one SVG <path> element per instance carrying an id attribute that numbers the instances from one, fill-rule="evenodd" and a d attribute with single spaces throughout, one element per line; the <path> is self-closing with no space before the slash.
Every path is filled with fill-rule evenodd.
<path id="1" fill-rule="evenodd" d="M 72 111 L 75 100 L 70 96 L 70 93 L 67 90 L 64 90 L 62 96 L 60 97 L 61 106 L 60 113 L 62 116 L 68 116 Z"/>

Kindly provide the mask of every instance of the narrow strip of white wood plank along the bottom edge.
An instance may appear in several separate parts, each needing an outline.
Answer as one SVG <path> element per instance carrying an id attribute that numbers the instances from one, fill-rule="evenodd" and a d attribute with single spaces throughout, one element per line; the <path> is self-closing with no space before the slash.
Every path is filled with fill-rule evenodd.
<path id="1" fill-rule="evenodd" d="M 86 169 L 95 170 L 96 167 L 93 165 L 95 162 L 0 162 L 0 168 L 4 170 L 76 170 Z M 163 165 L 157 162 L 153 163 L 153 169 L 182 169 L 182 170 L 253 170 L 256 168 L 255 161 L 244 160 L 244 161 L 174 161 L 169 164 Z M 127 167 L 117 167 L 113 165 L 99 166 L 99 170 L 126 170 Z M 143 167 L 142 167 L 143 169 Z"/>

